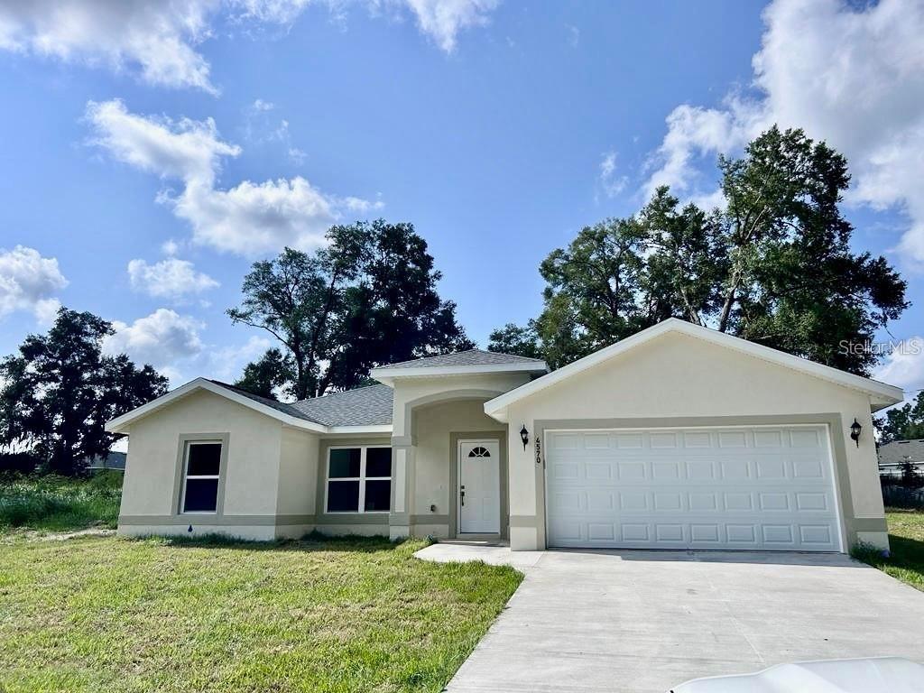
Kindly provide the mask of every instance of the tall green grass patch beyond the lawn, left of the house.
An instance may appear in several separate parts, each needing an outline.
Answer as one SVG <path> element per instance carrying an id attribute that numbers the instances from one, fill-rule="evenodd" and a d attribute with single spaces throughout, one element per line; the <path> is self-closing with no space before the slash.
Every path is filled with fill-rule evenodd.
<path id="1" fill-rule="evenodd" d="M 122 474 L 114 471 L 89 479 L 6 477 L 0 479 L 0 529 L 115 528 L 121 496 Z"/>

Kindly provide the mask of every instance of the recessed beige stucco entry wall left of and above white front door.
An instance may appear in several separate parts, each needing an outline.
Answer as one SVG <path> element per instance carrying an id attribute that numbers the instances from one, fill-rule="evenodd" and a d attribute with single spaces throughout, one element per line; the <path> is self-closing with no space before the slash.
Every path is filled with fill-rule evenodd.
<path id="1" fill-rule="evenodd" d="M 414 415 L 416 473 L 411 513 L 417 516 L 442 516 L 450 513 L 451 468 L 456 464 L 451 434 L 468 432 L 504 432 L 506 426 L 484 413 L 484 400 L 458 400 L 420 407 Z M 452 489 L 455 494 L 455 488 Z M 430 506 L 436 505 L 431 512 Z M 435 533 L 445 536 L 448 521 L 432 522 Z M 432 529 L 432 528 L 430 528 Z M 419 530 L 420 531 L 420 530 Z M 433 533 L 428 530 L 428 533 Z"/>

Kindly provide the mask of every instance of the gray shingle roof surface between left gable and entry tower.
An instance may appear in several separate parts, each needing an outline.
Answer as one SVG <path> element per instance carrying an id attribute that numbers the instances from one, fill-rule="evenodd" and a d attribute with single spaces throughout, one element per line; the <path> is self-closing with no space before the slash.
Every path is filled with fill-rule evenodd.
<path id="1" fill-rule="evenodd" d="M 392 422 L 392 400 L 395 391 L 388 385 L 359 387 L 356 390 L 286 404 L 254 395 L 228 383 L 217 380 L 212 382 L 296 419 L 320 423 L 323 426 L 382 426 Z"/>

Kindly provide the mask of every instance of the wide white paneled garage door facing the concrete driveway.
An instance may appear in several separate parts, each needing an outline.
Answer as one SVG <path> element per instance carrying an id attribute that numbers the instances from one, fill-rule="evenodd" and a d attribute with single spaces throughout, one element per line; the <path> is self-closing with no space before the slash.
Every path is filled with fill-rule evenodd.
<path id="1" fill-rule="evenodd" d="M 842 551 L 827 427 L 546 432 L 549 546 Z"/>

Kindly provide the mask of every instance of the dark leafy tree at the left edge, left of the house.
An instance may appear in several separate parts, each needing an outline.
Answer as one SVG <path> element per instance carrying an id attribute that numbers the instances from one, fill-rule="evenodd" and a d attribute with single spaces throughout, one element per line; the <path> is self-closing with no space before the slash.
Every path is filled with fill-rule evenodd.
<path id="1" fill-rule="evenodd" d="M 65 475 L 109 454 L 115 436 L 103 424 L 163 395 L 167 380 L 124 354 L 104 355 L 108 334 L 102 318 L 62 308 L 48 334 L 30 334 L 0 362 L 0 444 Z"/>

